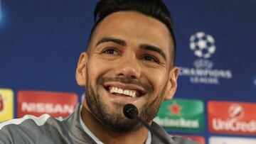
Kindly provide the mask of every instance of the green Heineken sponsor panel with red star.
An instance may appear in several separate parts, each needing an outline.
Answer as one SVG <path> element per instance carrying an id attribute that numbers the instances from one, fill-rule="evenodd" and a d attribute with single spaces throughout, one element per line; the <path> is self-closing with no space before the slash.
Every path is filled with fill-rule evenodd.
<path id="1" fill-rule="evenodd" d="M 189 99 L 173 99 L 161 104 L 154 121 L 168 131 L 203 131 L 203 102 Z"/>

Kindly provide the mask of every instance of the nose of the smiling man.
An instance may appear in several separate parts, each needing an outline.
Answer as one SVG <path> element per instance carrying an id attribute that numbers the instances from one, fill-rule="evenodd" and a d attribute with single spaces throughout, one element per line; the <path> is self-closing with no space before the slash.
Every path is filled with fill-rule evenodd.
<path id="1" fill-rule="evenodd" d="M 125 79 L 139 79 L 141 77 L 141 67 L 136 55 L 122 55 L 117 67 L 115 67 L 117 77 Z"/>

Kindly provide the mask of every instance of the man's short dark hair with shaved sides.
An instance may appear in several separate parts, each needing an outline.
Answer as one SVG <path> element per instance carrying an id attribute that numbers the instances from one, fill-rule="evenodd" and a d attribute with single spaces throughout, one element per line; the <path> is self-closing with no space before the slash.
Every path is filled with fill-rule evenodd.
<path id="1" fill-rule="evenodd" d="M 164 23 L 174 40 L 173 57 L 175 61 L 176 38 L 174 36 L 174 22 L 172 21 L 171 13 L 161 0 L 100 0 L 95 7 L 95 24 L 90 32 L 89 43 L 98 24 L 111 13 L 118 11 L 136 11 Z"/>

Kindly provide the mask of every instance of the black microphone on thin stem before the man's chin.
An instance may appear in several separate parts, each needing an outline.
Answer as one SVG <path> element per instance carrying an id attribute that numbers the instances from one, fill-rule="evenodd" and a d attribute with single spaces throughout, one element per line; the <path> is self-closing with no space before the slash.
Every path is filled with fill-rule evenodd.
<path id="1" fill-rule="evenodd" d="M 164 137 L 164 135 L 161 135 L 157 131 L 155 131 L 151 126 L 149 126 L 145 121 L 142 120 L 142 118 L 139 118 L 138 116 L 138 109 L 133 104 L 126 104 L 123 109 L 124 116 L 126 116 L 129 119 L 136 119 L 139 121 L 139 123 L 142 123 L 143 126 L 145 126 L 152 134 L 156 135 L 159 140 L 161 140 L 163 143 L 171 144 L 170 141 Z"/>

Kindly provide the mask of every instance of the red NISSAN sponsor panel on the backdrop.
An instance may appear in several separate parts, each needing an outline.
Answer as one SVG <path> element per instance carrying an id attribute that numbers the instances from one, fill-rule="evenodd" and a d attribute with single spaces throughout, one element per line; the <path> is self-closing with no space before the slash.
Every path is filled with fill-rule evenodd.
<path id="1" fill-rule="evenodd" d="M 60 92 L 18 92 L 18 117 L 26 114 L 41 116 L 69 116 L 78 104 L 78 95 Z"/>

